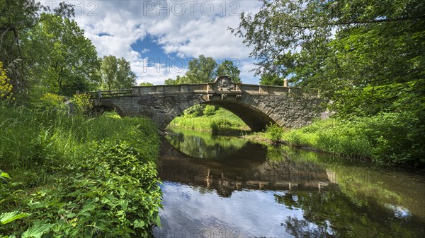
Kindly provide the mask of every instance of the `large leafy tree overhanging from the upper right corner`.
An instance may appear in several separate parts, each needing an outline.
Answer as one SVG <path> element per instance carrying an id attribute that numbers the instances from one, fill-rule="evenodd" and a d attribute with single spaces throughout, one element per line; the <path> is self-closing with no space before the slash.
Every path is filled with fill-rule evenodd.
<path id="1" fill-rule="evenodd" d="M 423 108 L 424 1 L 263 1 L 231 30 L 253 47 L 256 74 L 292 75 L 290 81 L 319 89 L 339 112 L 397 111 L 412 95 Z M 376 87 L 387 90 L 376 95 Z"/>

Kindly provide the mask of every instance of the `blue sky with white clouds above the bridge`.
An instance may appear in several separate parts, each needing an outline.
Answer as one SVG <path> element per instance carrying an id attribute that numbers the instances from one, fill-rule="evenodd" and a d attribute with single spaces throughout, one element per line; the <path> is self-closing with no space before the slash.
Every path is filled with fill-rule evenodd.
<path id="1" fill-rule="evenodd" d="M 188 61 L 200 54 L 217 61 L 231 59 L 244 83 L 259 81 L 250 72 L 255 67 L 251 49 L 227 28 L 239 25 L 240 13 L 259 11 L 261 1 L 69 2 L 98 56 L 112 54 L 130 61 L 137 83 L 162 84 L 182 76 Z"/>

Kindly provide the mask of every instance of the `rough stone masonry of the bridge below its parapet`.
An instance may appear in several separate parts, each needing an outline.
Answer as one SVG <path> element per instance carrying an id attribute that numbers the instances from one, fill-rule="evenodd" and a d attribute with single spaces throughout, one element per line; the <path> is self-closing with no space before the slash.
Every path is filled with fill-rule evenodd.
<path id="1" fill-rule="evenodd" d="M 256 131 L 264 129 L 270 122 L 285 127 L 305 126 L 322 112 L 318 97 L 302 93 L 271 95 L 242 92 L 240 97 L 221 98 L 210 100 L 206 93 L 157 93 L 94 101 L 98 106 L 115 107 L 121 116 L 149 117 L 159 129 L 165 129 L 184 109 L 204 102 L 229 109 Z"/>

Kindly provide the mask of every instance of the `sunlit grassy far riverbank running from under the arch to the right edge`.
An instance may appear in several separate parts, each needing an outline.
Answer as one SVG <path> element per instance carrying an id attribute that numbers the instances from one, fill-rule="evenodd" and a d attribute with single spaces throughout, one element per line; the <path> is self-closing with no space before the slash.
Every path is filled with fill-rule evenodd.
<path id="1" fill-rule="evenodd" d="M 425 128 L 421 121 L 423 119 L 402 112 L 381 113 L 373 117 L 318 120 L 300 129 L 270 126 L 266 131 L 251 133 L 239 117 L 219 109 L 210 116 L 177 117 L 171 126 L 209 132 L 216 126 L 218 135 L 242 136 L 268 145 L 285 144 L 370 160 L 378 166 L 423 169 Z"/>

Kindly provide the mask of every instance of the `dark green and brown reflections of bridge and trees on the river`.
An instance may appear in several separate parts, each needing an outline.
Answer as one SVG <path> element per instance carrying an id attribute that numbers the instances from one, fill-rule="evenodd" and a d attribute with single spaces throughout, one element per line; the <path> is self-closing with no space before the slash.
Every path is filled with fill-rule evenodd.
<path id="1" fill-rule="evenodd" d="M 204 151 L 202 146 L 211 150 L 217 143 L 227 150 L 232 145 L 226 147 L 226 143 L 233 143 L 177 136 L 174 145 L 186 140 L 193 143 L 189 148 L 194 151 Z M 281 221 L 295 237 L 421 237 L 425 232 L 420 207 L 424 191 L 420 181 L 404 174 L 353 166 L 347 160 L 305 150 L 246 142 L 236 143 L 228 153 L 214 150 L 208 155 L 212 160 L 188 157 L 166 146 L 170 148 L 162 157 L 160 171 L 164 180 L 196 185 L 201 193 L 215 191 L 223 197 L 242 189 L 285 191 L 276 194 L 275 201 L 303 210 L 302 218 Z M 411 213 L 400 215 L 403 211 L 397 210 L 397 204 Z"/>

